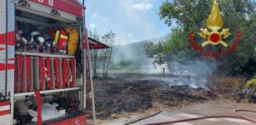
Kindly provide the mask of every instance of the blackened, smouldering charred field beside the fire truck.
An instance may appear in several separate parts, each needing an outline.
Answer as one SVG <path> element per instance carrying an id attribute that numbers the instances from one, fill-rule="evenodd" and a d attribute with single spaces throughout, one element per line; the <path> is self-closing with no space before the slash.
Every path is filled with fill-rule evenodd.
<path id="1" fill-rule="evenodd" d="M 169 74 L 119 73 L 112 76 L 93 79 L 95 108 L 97 118 L 101 120 L 113 119 L 123 113 L 144 112 L 155 108 L 155 102 L 174 109 L 227 98 L 234 83 L 244 82 L 243 78 L 218 76 L 207 79 Z M 88 118 L 92 116 L 88 115 Z"/>

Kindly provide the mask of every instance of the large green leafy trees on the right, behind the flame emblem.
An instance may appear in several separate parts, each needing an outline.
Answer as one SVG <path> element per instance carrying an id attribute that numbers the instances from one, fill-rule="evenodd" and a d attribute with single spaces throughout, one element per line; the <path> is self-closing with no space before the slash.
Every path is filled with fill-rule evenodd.
<path id="1" fill-rule="evenodd" d="M 228 75 L 256 72 L 256 2 L 251 0 L 220 0 L 219 7 L 224 21 L 223 28 L 229 28 L 232 35 L 225 39 L 228 48 L 233 44 L 236 31 L 243 33 L 241 42 L 235 51 L 224 57 L 208 58 L 194 51 L 189 45 L 188 33 L 195 31 L 196 42 L 200 45 L 200 28 L 206 28 L 206 19 L 211 12 L 213 0 L 166 0 L 159 11 L 168 27 L 172 27 L 171 39 L 166 42 L 145 43 L 144 50 L 148 57 L 158 64 L 166 63 L 171 70 L 173 62 L 190 64 L 194 60 L 209 63 L 218 62 L 218 72 Z M 210 46 L 206 49 L 221 52 L 222 46 Z"/>

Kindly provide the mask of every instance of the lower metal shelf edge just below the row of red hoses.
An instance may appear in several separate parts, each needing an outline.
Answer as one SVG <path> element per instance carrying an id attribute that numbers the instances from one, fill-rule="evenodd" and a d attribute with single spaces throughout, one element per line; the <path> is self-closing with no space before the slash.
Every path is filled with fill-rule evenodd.
<path id="1" fill-rule="evenodd" d="M 79 89 L 81 89 L 81 87 L 70 87 L 70 88 L 63 88 L 63 89 L 42 90 L 40 91 L 40 93 L 43 94 L 43 93 L 52 93 L 52 92 L 68 92 L 68 91 L 74 91 Z M 23 97 L 23 96 L 29 96 L 34 94 L 35 92 L 19 92 L 19 93 L 15 93 L 14 97 Z"/>

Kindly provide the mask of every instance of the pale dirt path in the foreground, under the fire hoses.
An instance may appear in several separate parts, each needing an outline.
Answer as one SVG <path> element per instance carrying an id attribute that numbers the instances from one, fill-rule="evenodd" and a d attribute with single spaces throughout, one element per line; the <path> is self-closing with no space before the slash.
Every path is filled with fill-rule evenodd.
<path id="1" fill-rule="evenodd" d="M 151 117 L 145 119 L 141 122 L 133 123 L 134 125 L 141 125 L 146 123 L 153 123 L 153 122 L 168 122 L 173 120 L 185 119 L 185 118 L 192 118 L 192 117 L 205 117 L 205 116 L 212 116 L 212 115 L 233 115 L 233 110 L 235 109 L 250 109 L 255 110 L 256 104 L 247 103 L 247 102 L 233 102 L 230 100 L 222 99 L 218 101 L 211 101 L 211 102 L 204 102 L 202 104 L 188 106 L 188 107 L 180 107 L 176 110 L 171 110 L 169 108 L 163 108 L 163 112 L 158 114 L 155 117 Z M 252 113 L 245 113 L 248 117 L 256 118 L 255 114 Z M 141 114 L 139 114 L 141 115 Z M 105 122 L 103 125 L 119 125 L 123 122 L 132 121 L 133 119 L 138 118 L 138 116 L 133 115 L 130 118 L 121 117 L 116 120 Z M 193 122 L 181 122 L 176 123 L 175 125 L 253 125 L 254 123 L 240 120 L 240 119 L 233 119 L 233 118 L 212 118 L 200 121 L 193 121 Z"/>

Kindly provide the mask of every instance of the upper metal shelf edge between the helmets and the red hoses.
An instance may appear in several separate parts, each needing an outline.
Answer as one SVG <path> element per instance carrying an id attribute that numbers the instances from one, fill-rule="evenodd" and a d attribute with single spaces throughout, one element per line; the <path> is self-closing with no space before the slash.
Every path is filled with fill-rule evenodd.
<path id="1" fill-rule="evenodd" d="M 16 55 L 23 56 L 36 56 L 36 57 L 60 57 L 60 58 L 74 58 L 73 55 L 61 55 L 61 54 L 49 54 L 49 53 L 38 53 L 38 52 L 15 52 Z"/>

